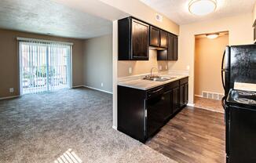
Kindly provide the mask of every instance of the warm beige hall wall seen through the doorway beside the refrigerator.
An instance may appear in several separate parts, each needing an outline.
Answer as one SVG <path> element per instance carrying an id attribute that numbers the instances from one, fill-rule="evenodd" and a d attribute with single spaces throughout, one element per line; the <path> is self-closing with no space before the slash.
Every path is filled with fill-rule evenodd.
<path id="1" fill-rule="evenodd" d="M 195 95 L 203 91 L 224 94 L 221 84 L 221 60 L 229 35 L 215 39 L 196 38 Z"/>

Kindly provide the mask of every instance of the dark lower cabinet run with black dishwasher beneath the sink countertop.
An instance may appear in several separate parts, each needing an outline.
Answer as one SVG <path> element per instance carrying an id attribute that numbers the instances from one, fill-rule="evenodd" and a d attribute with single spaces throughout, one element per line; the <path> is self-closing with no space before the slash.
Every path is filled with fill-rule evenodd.
<path id="1" fill-rule="evenodd" d="M 118 85 L 118 130 L 144 143 L 188 101 L 188 78 L 141 90 Z"/>

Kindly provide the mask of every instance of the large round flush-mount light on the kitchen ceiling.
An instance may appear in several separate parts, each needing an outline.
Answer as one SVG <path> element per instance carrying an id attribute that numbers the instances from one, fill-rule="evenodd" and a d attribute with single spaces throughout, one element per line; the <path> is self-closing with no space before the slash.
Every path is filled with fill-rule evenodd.
<path id="1" fill-rule="evenodd" d="M 192 0 L 188 4 L 188 10 L 197 16 L 207 15 L 216 9 L 215 0 Z"/>

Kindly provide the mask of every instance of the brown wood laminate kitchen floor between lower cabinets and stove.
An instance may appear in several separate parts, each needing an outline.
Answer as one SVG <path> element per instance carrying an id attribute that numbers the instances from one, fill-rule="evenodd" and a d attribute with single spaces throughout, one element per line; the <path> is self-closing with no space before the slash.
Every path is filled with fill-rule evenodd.
<path id="1" fill-rule="evenodd" d="M 180 163 L 224 163 L 224 114 L 185 107 L 146 144 Z"/>

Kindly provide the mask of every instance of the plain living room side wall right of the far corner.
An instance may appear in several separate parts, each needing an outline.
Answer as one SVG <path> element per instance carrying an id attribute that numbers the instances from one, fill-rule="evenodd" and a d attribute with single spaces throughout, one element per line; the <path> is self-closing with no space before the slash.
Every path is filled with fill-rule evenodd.
<path id="1" fill-rule="evenodd" d="M 86 39 L 83 54 L 84 85 L 112 92 L 112 34 Z"/>

